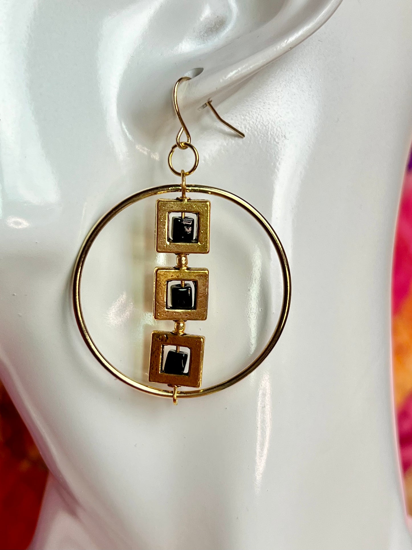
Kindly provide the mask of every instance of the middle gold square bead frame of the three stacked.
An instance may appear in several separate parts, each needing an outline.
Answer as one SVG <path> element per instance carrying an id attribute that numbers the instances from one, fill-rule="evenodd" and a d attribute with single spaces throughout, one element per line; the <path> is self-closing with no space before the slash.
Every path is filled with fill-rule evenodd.
<path id="1" fill-rule="evenodd" d="M 191 310 L 170 309 L 167 307 L 169 281 L 196 282 L 196 308 Z M 208 316 L 209 270 L 206 268 L 176 269 L 157 267 L 154 270 L 153 316 L 168 321 L 204 321 Z"/>

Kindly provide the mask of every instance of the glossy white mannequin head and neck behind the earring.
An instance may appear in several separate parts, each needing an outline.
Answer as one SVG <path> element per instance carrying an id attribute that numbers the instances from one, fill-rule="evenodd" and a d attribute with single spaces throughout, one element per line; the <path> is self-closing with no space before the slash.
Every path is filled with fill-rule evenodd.
<path id="1" fill-rule="evenodd" d="M 338 4 L 1 4 L 0 375 L 52 474 L 33 550 L 412 548 L 389 304 L 412 5 L 344 0 L 333 14 Z M 105 211 L 176 182 L 170 94 L 183 74 L 197 75 L 181 95 L 201 156 L 192 181 L 270 220 L 292 307 L 252 376 L 174 407 L 88 353 L 70 278 Z M 199 109 L 209 98 L 244 140 Z M 83 302 L 104 353 L 144 379 L 160 326 L 153 269 L 172 259 L 154 251 L 154 202 L 133 208 L 96 242 Z M 191 257 L 210 270 L 209 318 L 188 323 L 206 337 L 208 384 L 258 353 L 281 292 L 246 217 L 213 201 L 211 223 L 210 254 Z"/>

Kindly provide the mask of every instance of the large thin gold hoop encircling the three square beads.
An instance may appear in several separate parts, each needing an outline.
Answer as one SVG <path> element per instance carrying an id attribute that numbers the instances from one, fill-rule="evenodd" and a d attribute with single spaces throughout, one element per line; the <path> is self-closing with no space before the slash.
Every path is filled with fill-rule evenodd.
<path id="1" fill-rule="evenodd" d="M 107 212 L 101 219 L 99 219 L 99 221 L 91 229 L 90 233 L 87 235 L 86 240 L 83 242 L 81 246 L 79 256 L 77 256 L 77 260 L 76 260 L 74 272 L 73 272 L 74 314 L 76 317 L 77 326 L 79 326 L 79 330 L 83 337 L 83 340 L 85 340 L 85 343 L 88 349 L 90 349 L 94 357 L 96 357 L 99 363 L 103 365 L 104 368 L 107 368 L 107 370 L 111 372 L 112 375 L 114 375 L 116 378 L 119 378 L 122 382 L 129 384 L 129 386 L 139 389 L 142 392 L 158 395 L 159 397 L 170 397 L 170 398 L 173 398 L 174 390 L 154 388 L 152 386 L 148 386 L 147 384 L 136 382 L 136 380 L 133 380 L 132 378 L 129 378 L 128 376 L 124 375 L 123 372 L 120 372 L 114 365 L 112 365 L 112 363 L 110 363 L 110 361 L 108 361 L 104 357 L 101 351 L 97 348 L 96 344 L 94 344 L 93 339 L 90 333 L 88 332 L 85 318 L 83 317 L 83 311 L 81 308 L 80 291 L 81 291 L 81 277 L 82 277 L 83 267 L 85 265 L 87 254 L 90 251 L 91 246 L 94 243 L 94 240 L 96 240 L 97 235 L 110 222 L 110 220 L 112 220 L 122 210 L 127 208 L 127 206 L 130 206 L 137 201 L 141 201 L 142 199 L 146 199 L 147 197 L 151 197 L 154 195 L 161 195 L 163 193 L 175 193 L 175 192 L 179 193 L 180 190 L 181 190 L 180 185 L 161 185 L 158 187 L 152 187 L 150 189 L 144 189 L 143 191 L 139 191 L 138 193 L 135 193 L 134 195 L 127 197 L 127 199 L 124 199 L 123 201 L 119 202 L 118 205 L 114 206 L 112 210 L 109 210 L 109 212 Z M 241 381 L 244 377 L 246 377 L 251 372 L 253 372 L 255 368 L 257 368 L 261 364 L 261 362 L 266 359 L 266 357 L 270 354 L 271 350 L 274 348 L 277 340 L 279 340 L 279 337 L 283 331 L 283 328 L 285 327 L 286 319 L 289 313 L 289 307 L 291 305 L 291 272 L 289 270 L 289 264 L 287 261 L 285 250 L 283 250 L 282 243 L 279 240 L 279 237 L 277 237 L 275 230 L 272 228 L 270 223 L 261 215 L 261 213 L 258 212 L 258 210 L 256 210 L 253 206 L 251 206 L 248 202 L 244 201 L 237 195 L 233 195 L 232 193 L 229 193 L 229 191 L 224 191 L 222 189 L 209 187 L 206 185 L 187 185 L 187 191 L 190 193 L 205 193 L 208 195 L 215 195 L 218 197 L 222 197 L 223 199 L 227 199 L 231 202 L 234 202 L 236 205 L 246 210 L 250 214 L 250 216 L 252 216 L 260 224 L 261 227 L 263 227 L 263 229 L 265 230 L 266 234 L 270 238 L 270 241 L 277 252 L 277 256 L 279 257 L 281 271 L 282 271 L 282 279 L 283 279 L 283 299 L 282 299 L 282 306 L 281 306 L 279 320 L 277 321 L 275 330 L 271 335 L 269 342 L 265 345 L 265 348 L 263 349 L 263 351 L 261 351 L 259 356 L 254 361 L 252 361 L 250 365 L 248 365 L 242 371 L 238 372 L 237 375 L 232 376 L 231 378 L 228 378 L 224 382 L 215 384 L 214 386 L 209 386 L 207 388 L 200 388 L 195 390 L 178 391 L 176 395 L 179 398 L 201 397 L 202 395 L 208 395 L 209 393 L 219 392 L 222 389 L 229 388 L 229 386 L 236 384 L 236 382 Z"/>

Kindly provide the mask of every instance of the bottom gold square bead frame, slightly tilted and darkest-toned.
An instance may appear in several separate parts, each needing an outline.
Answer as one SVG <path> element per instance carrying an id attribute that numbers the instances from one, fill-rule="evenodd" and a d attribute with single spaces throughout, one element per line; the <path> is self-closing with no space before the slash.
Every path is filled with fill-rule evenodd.
<path id="1" fill-rule="evenodd" d="M 162 371 L 163 349 L 165 345 L 189 348 L 189 371 L 183 375 L 172 375 Z M 204 337 L 194 334 L 172 332 L 152 332 L 150 351 L 149 382 L 159 382 L 170 386 L 200 388 L 202 384 Z"/>

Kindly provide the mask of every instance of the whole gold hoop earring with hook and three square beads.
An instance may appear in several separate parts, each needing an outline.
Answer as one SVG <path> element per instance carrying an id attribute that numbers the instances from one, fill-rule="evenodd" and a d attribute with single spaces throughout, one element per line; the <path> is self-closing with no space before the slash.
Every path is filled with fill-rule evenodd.
<path id="1" fill-rule="evenodd" d="M 199 164 L 199 154 L 191 142 L 191 135 L 180 113 L 177 102 L 177 90 L 182 81 L 190 80 L 188 76 L 180 78 L 173 89 L 173 103 L 175 113 L 181 128 L 176 136 L 176 143 L 172 146 L 168 164 L 170 170 L 180 177 L 179 185 L 162 185 L 135 193 L 114 206 L 91 229 L 83 242 L 74 268 L 73 275 L 73 306 L 80 333 L 88 349 L 94 357 L 109 372 L 130 386 L 143 392 L 160 397 L 172 398 L 177 404 L 178 397 L 200 397 L 225 389 L 257 368 L 269 355 L 285 327 L 291 302 L 291 274 L 285 250 L 270 223 L 253 206 L 240 197 L 222 189 L 205 185 L 187 185 L 186 178 L 196 171 Z M 222 119 L 211 100 L 205 103 L 218 120 L 226 127 L 235 131 L 244 138 L 244 134 Z M 183 133 L 185 139 L 181 140 Z M 194 163 L 187 172 L 177 171 L 172 165 L 172 156 L 175 150 L 190 149 L 194 155 Z M 154 331 L 151 339 L 148 382 L 165 384 L 171 389 L 150 386 L 133 380 L 124 375 L 112 365 L 94 344 L 88 332 L 81 307 L 81 277 L 84 263 L 94 240 L 101 230 L 119 212 L 137 201 L 149 196 L 164 193 L 180 193 L 175 199 L 158 199 L 156 212 L 155 243 L 158 252 L 176 254 L 174 267 L 156 267 L 154 270 L 153 316 L 157 320 L 174 322 L 171 332 Z M 277 256 L 279 257 L 282 281 L 283 298 L 279 320 L 269 342 L 259 356 L 246 368 L 235 376 L 216 384 L 202 388 L 202 370 L 205 338 L 202 335 L 186 334 L 186 321 L 204 321 L 208 314 L 209 271 L 207 268 L 191 268 L 188 266 L 189 254 L 207 254 L 209 252 L 210 236 L 210 201 L 191 199 L 188 193 L 203 193 L 215 195 L 229 200 L 248 212 L 265 230 Z M 212 289 L 213 290 L 213 289 Z M 180 390 L 180 387 L 196 388 Z"/>

